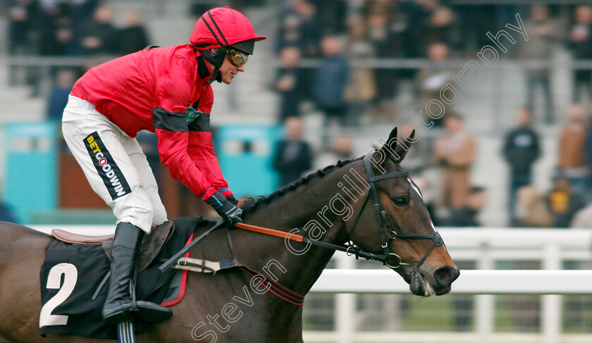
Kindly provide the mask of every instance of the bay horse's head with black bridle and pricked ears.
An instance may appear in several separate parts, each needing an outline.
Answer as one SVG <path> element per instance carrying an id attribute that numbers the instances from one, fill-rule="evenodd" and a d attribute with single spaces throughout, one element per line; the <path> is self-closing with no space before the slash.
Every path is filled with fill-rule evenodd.
<path id="1" fill-rule="evenodd" d="M 395 127 L 381 149 L 364 158 L 369 195 L 359 205 L 350 235 L 362 250 L 386 256 L 386 265 L 413 294 L 428 297 L 450 292 L 460 271 L 433 227 L 419 188 L 400 166 L 413 140 L 414 132 L 398 139 Z"/>

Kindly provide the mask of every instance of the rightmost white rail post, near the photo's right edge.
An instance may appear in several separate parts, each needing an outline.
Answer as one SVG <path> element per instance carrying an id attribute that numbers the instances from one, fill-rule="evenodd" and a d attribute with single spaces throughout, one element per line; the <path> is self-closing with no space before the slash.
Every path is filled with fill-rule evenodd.
<path id="1" fill-rule="evenodd" d="M 560 248 L 557 244 L 545 246 L 543 269 L 561 269 Z M 562 296 L 557 294 L 542 296 L 541 328 L 544 343 L 558 343 L 562 328 Z"/>

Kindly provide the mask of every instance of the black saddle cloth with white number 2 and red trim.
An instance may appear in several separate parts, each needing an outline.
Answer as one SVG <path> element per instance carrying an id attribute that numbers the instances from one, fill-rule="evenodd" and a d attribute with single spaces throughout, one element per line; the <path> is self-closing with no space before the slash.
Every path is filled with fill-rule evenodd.
<path id="1" fill-rule="evenodd" d="M 152 264 L 137 275 L 137 299 L 163 306 L 178 304 L 183 297 L 187 270 L 169 268 L 161 273 L 158 267 L 190 242 L 196 230 L 206 230 L 215 224 L 202 218 L 179 218 L 173 223 L 173 235 Z M 116 325 L 106 325 L 101 318 L 108 288 L 105 276 L 109 268 L 109 258 L 100 244 L 68 244 L 56 239 L 49 242 L 40 273 L 42 310 L 39 328 L 42 336 L 117 337 Z M 150 324 L 137 320 L 135 325 L 141 332 Z"/>

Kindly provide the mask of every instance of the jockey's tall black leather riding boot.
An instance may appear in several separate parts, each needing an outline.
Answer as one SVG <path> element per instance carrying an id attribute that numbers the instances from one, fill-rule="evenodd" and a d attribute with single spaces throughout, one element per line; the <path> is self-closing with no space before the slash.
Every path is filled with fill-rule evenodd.
<path id="1" fill-rule="evenodd" d="M 107 323 L 121 323 L 137 316 L 156 323 L 173 316 L 170 308 L 148 301 L 132 301 L 131 287 L 135 287 L 132 285 L 132 278 L 142 237 L 144 232 L 139 227 L 130 223 L 118 223 L 111 247 L 109 292 L 102 313 L 103 320 Z"/>

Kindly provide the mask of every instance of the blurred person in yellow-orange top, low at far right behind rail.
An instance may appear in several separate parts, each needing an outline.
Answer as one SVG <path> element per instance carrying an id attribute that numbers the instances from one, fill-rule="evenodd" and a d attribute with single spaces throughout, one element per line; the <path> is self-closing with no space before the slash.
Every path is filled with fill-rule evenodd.
<path id="1" fill-rule="evenodd" d="M 584 199 L 563 175 L 555 176 L 553 188 L 547 194 L 546 201 L 553 218 L 553 227 L 569 227 L 574 214 L 586 206 Z"/>

